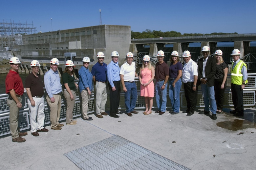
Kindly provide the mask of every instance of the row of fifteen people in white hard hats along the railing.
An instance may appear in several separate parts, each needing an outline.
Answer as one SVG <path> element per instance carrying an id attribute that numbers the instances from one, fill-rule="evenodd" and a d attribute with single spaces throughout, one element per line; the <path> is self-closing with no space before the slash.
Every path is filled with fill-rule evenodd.
<path id="1" fill-rule="evenodd" d="M 171 65 L 168 66 L 164 62 L 164 52 L 158 51 L 158 62 L 156 67 L 151 65 L 150 57 L 143 57 L 143 64 L 140 68 L 139 75 L 136 73 L 136 65 L 133 62 L 133 53 L 126 54 L 126 62 L 119 68 L 119 53 L 113 51 L 111 53 L 112 61 L 107 65 L 104 63 L 104 53 L 97 53 L 98 62 L 92 67 L 90 72 L 88 66 L 90 58 L 82 59 L 83 65 L 80 68 L 79 83 L 75 82 L 74 66 L 71 60 L 66 61 L 65 71 L 62 75 L 64 89 L 63 95 L 66 99 L 66 125 L 75 125 L 76 120 L 73 119 L 73 110 L 75 106 L 75 91 L 79 88 L 82 97 L 82 117 L 84 120 L 93 120 L 88 116 L 88 104 L 90 95 L 96 91 L 96 117 L 103 118 L 108 114 L 105 112 L 105 104 L 107 102 L 107 86 L 109 88 L 110 111 L 109 116 L 118 118 L 120 100 L 120 86 L 124 91 L 126 114 L 133 116 L 138 114 L 135 111 L 137 100 L 137 86 L 135 77 L 139 77 L 140 96 L 145 97 L 144 115 L 152 113 L 153 97 L 155 94 L 158 110 L 155 113 L 162 115 L 166 111 L 167 88 L 169 88 L 169 97 L 172 104 L 170 114 L 175 115 L 180 112 L 180 89 L 181 81 L 184 85 L 184 93 L 187 102 L 187 116 L 191 116 L 195 112 L 197 104 L 198 86 L 201 85 L 204 98 L 204 110 L 199 114 L 209 114 L 211 112 L 212 119 L 217 119 L 216 113 L 222 113 L 224 104 L 224 91 L 226 88 L 227 64 L 222 58 L 222 51 L 217 50 L 215 56 L 209 56 L 210 48 L 204 46 L 202 49 L 203 57 L 198 63 L 191 59 L 189 51 L 184 51 L 184 66 L 179 61 L 177 51 L 171 53 Z M 234 116 L 244 116 L 243 108 L 243 89 L 247 81 L 246 64 L 240 60 L 240 51 L 234 49 L 231 53 L 233 63 L 231 66 L 231 91 L 234 104 Z M 10 107 L 10 130 L 13 142 L 26 141 L 23 136 L 27 132 L 20 132 L 18 128 L 19 109 L 22 107 L 22 95 L 24 93 L 23 83 L 18 74 L 20 60 L 17 57 L 10 59 L 11 70 L 6 76 L 6 93 L 8 94 L 7 104 Z M 28 95 L 28 105 L 30 109 L 31 134 L 39 136 L 38 132 L 48 132 L 44 127 L 44 87 L 47 92 L 46 100 L 50 107 L 51 129 L 61 130 L 63 124 L 59 123 L 61 110 L 61 92 L 62 86 L 58 73 L 59 60 L 53 58 L 50 61 L 50 70 L 44 75 L 44 82 L 40 74 L 40 63 L 37 60 L 31 62 L 32 72 L 25 80 L 25 88 Z M 156 79 L 154 85 L 153 80 Z M 168 87 L 169 81 L 169 87 Z M 210 108 L 209 108 L 210 105 Z M 210 112 L 209 112 L 210 111 Z M 103 115 L 103 116 L 102 116 Z"/>

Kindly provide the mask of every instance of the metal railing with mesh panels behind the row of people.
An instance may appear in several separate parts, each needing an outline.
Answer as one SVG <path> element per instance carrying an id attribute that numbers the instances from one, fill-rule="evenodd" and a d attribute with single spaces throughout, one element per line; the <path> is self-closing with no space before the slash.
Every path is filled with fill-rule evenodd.
<path id="1" fill-rule="evenodd" d="M 138 93 L 138 98 L 136 101 L 136 108 L 135 109 L 144 109 L 145 106 L 145 101 L 144 97 L 140 96 L 140 83 L 139 79 L 136 78 L 136 85 L 137 85 L 137 93 Z M 254 74 L 248 74 L 248 83 L 245 85 L 244 89 L 244 107 L 255 107 L 255 92 L 256 92 L 256 73 Z M 232 108 L 233 103 L 232 103 L 232 96 L 231 96 L 231 80 L 230 80 L 230 75 L 227 77 L 227 88 L 225 90 L 225 96 L 224 96 L 224 107 L 225 108 Z M 169 82 L 168 82 L 168 87 L 169 87 Z M 107 88 L 108 89 L 108 88 Z M 167 111 L 171 111 L 171 101 L 168 97 L 169 90 L 167 90 Z M 121 93 L 120 97 L 120 102 L 119 102 L 119 109 L 125 112 L 125 105 L 124 105 L 124 92 Z M 4 136 L 10 135 L 10 124 L 9 124 L 9 106 L 6 103 L 8 95 L 7 94 L 1 94 L 0 95 L 0 138 Z M 19 127 L 20 130 L 30 130 L 30 111 L 28 107 L 28 97 L 27 93 L 25 91 L 24 95 L 22 96 L 22 105 L 23 107 L 20 109 L 19 112 Z M 156 105 L 156 99 L 153 97 L 153 108 L 157 108 Z M 184 94 L 184 88 L 183 85 L 181 86 L 181 91 L 180 91 L 180 100 L 181 100 L 181 110 L 186 110 L 186 99 L 185 99 L 185 94 Z M 50 125 L 50 107 L 47 104 L 46 101 L 46 95 L 45 95 L 45 125 Z M 199 86 L 198 90 L 198 101 L 197 101 L 197 109 L 202 109 L 204 107 L 203 103 L 203 96 L 202 92 Z M 107 100 L 106 104 L 106 111 L 109 109 L 109 98 Z M 89 100 L 88 104 L 88 114 L 93 114 L 95 112 L 95 96 L 94 92 L 92 92 L 92 95 Z M 81 95 L 80 92 L 76 91 L 76 98 L 75 98 L 75 107 L 74 107 L 74 112 L 73 112 L 73 117 L 81 117 Z M 60 114 L 60 122 L 65 121 L 66 119 L 66 101 L 63 100 L 63 94 L 61 94 L 61 114 Z"/>

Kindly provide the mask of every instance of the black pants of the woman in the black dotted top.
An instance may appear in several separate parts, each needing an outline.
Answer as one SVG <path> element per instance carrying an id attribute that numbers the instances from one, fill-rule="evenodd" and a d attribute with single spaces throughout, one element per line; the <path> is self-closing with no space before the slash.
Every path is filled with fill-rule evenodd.
<path id="1" fill-rule="evenodd" d="M 215 100 L 217 104 L 217 109 L 222 110 L 224 104 L 224 93 L 227 87 L 227 81 L 224 83 L 224 89 L 221 89 L 223 79 L 214 79 L 214 91 L 215 91 Z"/>

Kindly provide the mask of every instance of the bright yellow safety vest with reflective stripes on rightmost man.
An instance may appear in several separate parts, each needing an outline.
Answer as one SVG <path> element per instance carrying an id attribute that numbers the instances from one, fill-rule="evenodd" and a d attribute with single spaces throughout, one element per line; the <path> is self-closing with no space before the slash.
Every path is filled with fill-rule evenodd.
<path id="1" fill-rule="evenodd" d="M 245 68 L 247 69 L 247 66 L 245 64 L 245 62 L 243 62 L 242 60 L 240 60 L 234 67 L 234 70 L 232 69 L 234 65 L 234 62 L 232 63 L 231 66 L 231 83 L 232 84 L 237 84 L 237 85 L 242 85 L 243 83 L 243 74 L 241 73 L 243 66 L 245 66 Z M 248 81 L 245 80 L 245 84 Z"/>

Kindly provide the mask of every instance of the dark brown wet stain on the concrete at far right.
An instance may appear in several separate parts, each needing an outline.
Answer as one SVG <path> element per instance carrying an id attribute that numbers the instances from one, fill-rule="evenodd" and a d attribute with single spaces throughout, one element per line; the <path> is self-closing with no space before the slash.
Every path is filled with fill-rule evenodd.
<path id="1" fill-rule="evenodd" d="M 218 122 L 216 123 L 216 125 L 221 128 L 232 130 L 232 131 L 237 131 L 237 130 L 242 130 L 247 128 L 256 128 L 256 125 L 254 122 L 251 122 L 248 120 L 239 120 L 239 119 L 235 119 L 234 121 Z"/>

